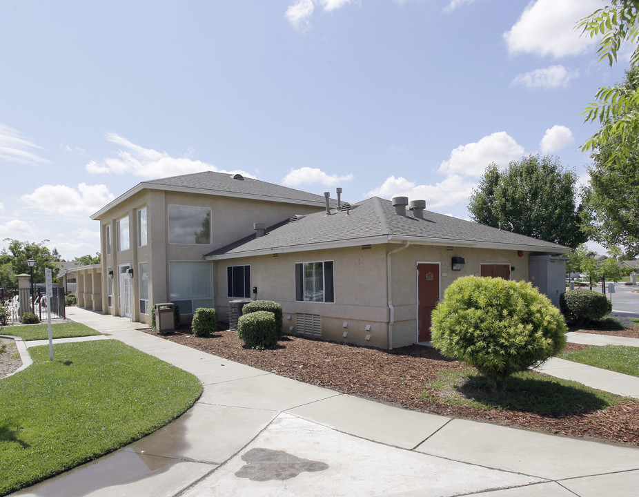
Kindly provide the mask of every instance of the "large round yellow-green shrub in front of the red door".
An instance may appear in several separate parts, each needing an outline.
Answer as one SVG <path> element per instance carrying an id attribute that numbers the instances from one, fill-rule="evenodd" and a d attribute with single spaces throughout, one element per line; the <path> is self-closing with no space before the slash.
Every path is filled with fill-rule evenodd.
<path id="1" fill-rule="evenodd" d="M 558 309 L 530 283 L 466 276 L 455 280 L 432 316 L 433 345 L 471 364 L 500 387 L 566 344 Z"/>

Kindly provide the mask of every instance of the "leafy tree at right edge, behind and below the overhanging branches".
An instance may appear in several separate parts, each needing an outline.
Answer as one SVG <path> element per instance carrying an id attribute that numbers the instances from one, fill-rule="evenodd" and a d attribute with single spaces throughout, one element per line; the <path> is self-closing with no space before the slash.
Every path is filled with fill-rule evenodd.
<path id="1" fill-rule="evenodd" d="M 626 79 L 619 88 L 637 91 L 638 67 L 626 71 Z M 634 142 L 638 139 L 639 135 Z M 591 155 L 594 162 L 588 168 L 590 186 L 584 188 L 582 195 L 584 220 L 593 240 L 606 247 L 622 246 L 626 253 L 636 255 L 639 253 L 639 148 L 633 145 L 621 159 L 619 150 L 623 148 L 623 141 L 619 134 L 609 135 Z"/>

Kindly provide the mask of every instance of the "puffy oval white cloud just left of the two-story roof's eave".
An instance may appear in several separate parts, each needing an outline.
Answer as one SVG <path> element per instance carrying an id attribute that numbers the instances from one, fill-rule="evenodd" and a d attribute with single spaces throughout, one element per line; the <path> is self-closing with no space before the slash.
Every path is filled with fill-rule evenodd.
<path id="1" fill-rule="evenodd" d="M 81 183 L 77 189 L 66 185 L 39 186 L 33 193 L 23 195 L 21 200 L 49 214 L 74 217 L 91 215 L 114 198 L 104 184 Z"/>

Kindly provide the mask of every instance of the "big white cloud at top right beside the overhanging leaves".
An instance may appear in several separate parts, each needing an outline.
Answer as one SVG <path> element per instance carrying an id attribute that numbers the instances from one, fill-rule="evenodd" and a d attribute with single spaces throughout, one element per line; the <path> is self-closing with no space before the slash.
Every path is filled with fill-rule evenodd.
<path id="1" fill-rule="evenodd" d="M 575 27 L 580 19 L 602 7 L 601 0 L 531 1 L 511 30 L 504 33 L 508 52 L 556 58 L 579 55 L 597 40 L 580 36 Z"/>

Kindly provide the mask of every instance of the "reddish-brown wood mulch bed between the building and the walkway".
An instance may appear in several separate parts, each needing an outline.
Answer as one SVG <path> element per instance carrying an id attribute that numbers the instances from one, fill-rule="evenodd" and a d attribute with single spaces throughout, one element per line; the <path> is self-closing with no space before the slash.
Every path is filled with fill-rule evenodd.
<path id="1" fill-rule="evenodd" d="M 150 329 L 146 332 L 155 334 Z M 219 331 L 210 338 L 179 331 L 160 336 L 286 378 L 406 409 L 639 446 L 639 402 L 635 400 L 622 400 L 600 411 L 556 416 L 509 409 L 477 411 L 447 404 L 434 391 L 429 392 L 426 383 L 435 380 L 442 369 L 467 366 L 429 347 L 413 345 L 385 351 L 288 336 L 276 349 L 257 351 L 244 349 L 233 331 Z M 567 351 L 587 347 L 570 344 Z"/>

